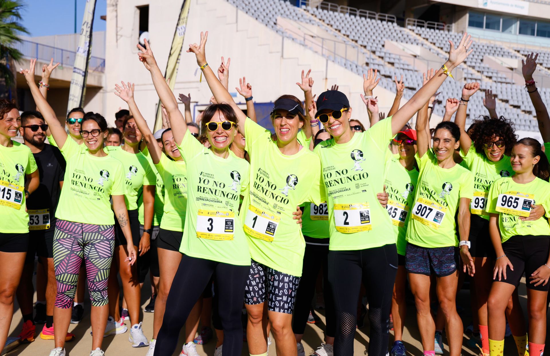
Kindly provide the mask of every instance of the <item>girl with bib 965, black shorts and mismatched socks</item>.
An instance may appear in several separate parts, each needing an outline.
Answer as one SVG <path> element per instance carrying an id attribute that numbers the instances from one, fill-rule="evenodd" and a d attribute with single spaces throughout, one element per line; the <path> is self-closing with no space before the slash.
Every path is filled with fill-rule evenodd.
<path id="1" fill-rule="evenodd" d="M 525 272 L 529 354 L 542 355 L 546 339 L 550 277 L 548 159 L 542 152 L 541 144 L 526 137 L 513 146 L 510 162 L 514 175 L 495 180 L 488 196 L 489 231 L 497 255 L 487 302 L 488 354 L 496 356 L 503 353 L 506 325 L 504 310 Z M 521 216 L 529 216 L 533 201 L 544 207 L 546 219 L 521 220 Z"/>

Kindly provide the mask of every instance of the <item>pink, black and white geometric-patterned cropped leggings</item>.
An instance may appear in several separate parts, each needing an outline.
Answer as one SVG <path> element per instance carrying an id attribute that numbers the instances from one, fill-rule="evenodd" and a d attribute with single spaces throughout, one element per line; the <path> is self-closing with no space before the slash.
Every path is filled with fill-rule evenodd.
<path id="1" fill-rule="evenodd" d="M 53 237 L 53 265 L 57 281 L 56 307 L 73 307 L 83 258 L 92 305 L 106 305 L 109 302 L 107 280 L 113 251 L 113 225 L 82 224 L 58 219 Z"/>

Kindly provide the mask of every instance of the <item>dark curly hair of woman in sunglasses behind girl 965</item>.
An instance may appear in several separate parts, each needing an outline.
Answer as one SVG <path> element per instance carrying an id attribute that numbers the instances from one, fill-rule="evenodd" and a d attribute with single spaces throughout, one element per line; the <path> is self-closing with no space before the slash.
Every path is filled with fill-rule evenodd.
<path id="1" fill-rule="evenodd" d="M 483 120 L 476 126 L 476 140 L 474 147 L 477 153 L 483 153 L 483 143 L 491 141 L 493 137 L 499 137 L 504 141 L 506 150 L 505 155 L 510 155 L 512 147 L 518 141 L 518 135 L 515 134 L 514 123 L 509 119 L 500 116 L 500 118 L 490 118 L 483 116 Z"/>

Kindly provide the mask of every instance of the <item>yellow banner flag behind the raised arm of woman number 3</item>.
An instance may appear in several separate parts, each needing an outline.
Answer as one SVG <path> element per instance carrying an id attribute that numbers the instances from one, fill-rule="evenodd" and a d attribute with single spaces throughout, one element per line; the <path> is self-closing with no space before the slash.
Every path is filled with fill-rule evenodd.
<path id="1" fill-rule="evenodd" d="M 174 38 L 172 40 L 172 48 L 170 48 L 170 55 L 168 57 L 168 64 L 166 65 L 166 73 L 164 78 L 170 80 L 168 86 L 170 90 L 174 90 L 175 77 L 178 74 L 179 58 L 182 54 L 183 36 L 185 35 L 185 26 L 187 25 L 187 15 L 189 14 L 189 5 L 191 0 L 183 0 L 182 10 L 179 13 L 178 24 L 175 27 Z M 157 118 L 155 120 L 155 130 L 162 129 L 162 112 L 161 102 L 158 102 Z"/>

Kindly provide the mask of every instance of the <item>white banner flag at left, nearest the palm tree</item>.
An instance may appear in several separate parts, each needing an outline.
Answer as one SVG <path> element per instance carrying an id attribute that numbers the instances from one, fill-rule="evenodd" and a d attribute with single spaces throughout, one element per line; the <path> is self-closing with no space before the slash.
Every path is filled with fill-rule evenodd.
<path id="1" fill-rule="evenodd" d="M 82 19 L 82 27 L 80 28 L 78 48 L 76 49 L 76 56 L 74 60 L 73 77 L 70 80 L 67 112 L 73 108 L 82 107 L 84 104 L 86 76 L 92 50 L 92 25 L 94 24 L 95 7 L 96 0 L 86 0 L 84 18 Z"/>

